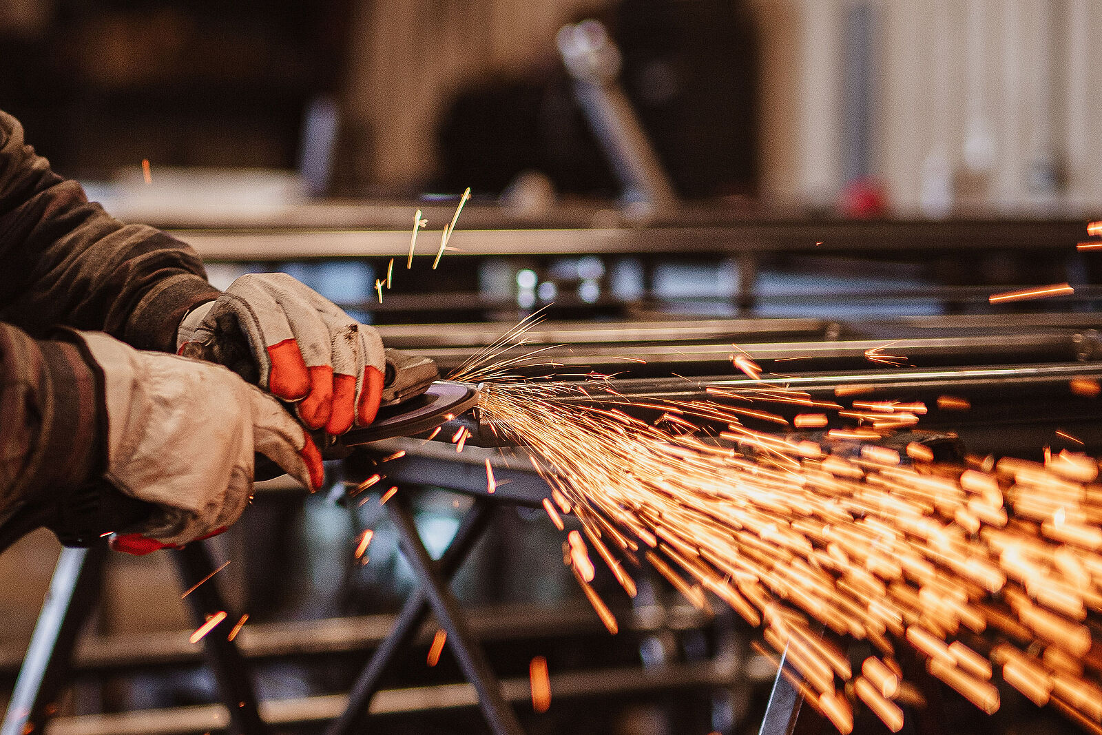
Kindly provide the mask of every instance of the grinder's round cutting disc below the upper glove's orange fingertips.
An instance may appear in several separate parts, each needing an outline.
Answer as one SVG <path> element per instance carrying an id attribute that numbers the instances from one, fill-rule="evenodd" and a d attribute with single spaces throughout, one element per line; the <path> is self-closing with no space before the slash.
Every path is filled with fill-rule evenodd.
<path id="1" fill-rule="evenodd" d="M 343 434 L 339 442 L 350 447 L 380 439 L 414 436 L 432 431 L 477 403 L 478 391 L 474 386 L 437 380 L 415 398 L 382 407 L 370 426 L 354 429 Z"/>

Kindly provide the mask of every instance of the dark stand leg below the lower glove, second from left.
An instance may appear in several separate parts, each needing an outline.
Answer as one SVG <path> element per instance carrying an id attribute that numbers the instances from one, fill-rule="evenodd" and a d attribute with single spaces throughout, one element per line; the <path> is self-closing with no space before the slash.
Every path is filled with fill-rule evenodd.
<path id="1" fill-rule="evenodd" d="M 173 552 L 173 555 L 184 588 L 198 584 L 215 571 L 210 554 L 202 542 L 190 543 Z M 208 616 L 227 609 L 217 580 L 213 579 L 190 594 L 187 602 L 197 626 L 206 623 Z M 203 639 L 204 655 L 218 684 L 222 702 L 229 711 L 230 732 L 240 735 L 262 735 L 267 728 L 257 711 L 251 671 L 237 645 L 226 639 L 237 620 L 236 615 L 229 614 L 206 635 Z"/>

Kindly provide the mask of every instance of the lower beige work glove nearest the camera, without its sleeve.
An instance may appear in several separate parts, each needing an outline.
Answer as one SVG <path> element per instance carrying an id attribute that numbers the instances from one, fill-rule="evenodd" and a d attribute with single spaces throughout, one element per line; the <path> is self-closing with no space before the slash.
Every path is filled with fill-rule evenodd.
<path id="1" fill-rule="evenodd" d="M 143 553 L 225 530 L 252 496 L 253 453 L 311 490 L 322 457 L 271 396 L 219 365 L 133 349 L 77 333 L 105 377 L 107 473 L 120 491 L 158 506 L 122 551 Z"/>

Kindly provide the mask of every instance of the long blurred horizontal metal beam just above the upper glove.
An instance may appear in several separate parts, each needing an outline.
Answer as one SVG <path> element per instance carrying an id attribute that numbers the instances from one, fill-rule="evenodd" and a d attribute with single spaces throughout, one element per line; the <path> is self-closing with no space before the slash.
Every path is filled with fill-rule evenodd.
<path id="1" fill-rule="evenodd" d="M 404 215 L 409 220 L 415 205 Z M 449 258 L 533 255 L 670 255 L 731 252 L 840 252 L 873 256 L 944 251 L 953 258 L 980 250 L 1060 251 L 1074 255 L 1082 238 L 1082 219 L 1063 220 L 768 220 L 735 219 L 721 225 L 662 225 L 591 227 L 579 223 L 558 229 L 501 228 L 475 225 L 466 212 L 467 227 L 449 240 Z M 714 218 L 715 214 L 711 215 Z M 706 223 L 706 210 L 694 213 Z M 440 221 L 437 218 L 433 221 Z M 314 258 L 399 257 L 409 252 L 406 225 L 378 229 L 177 229 L 172 233 L 191 244 L 204 260 L 300 260 Z M 439 240 L 440 230 L 422 237 Z M 820 245 L 821 244 L 821 245 Z"/>

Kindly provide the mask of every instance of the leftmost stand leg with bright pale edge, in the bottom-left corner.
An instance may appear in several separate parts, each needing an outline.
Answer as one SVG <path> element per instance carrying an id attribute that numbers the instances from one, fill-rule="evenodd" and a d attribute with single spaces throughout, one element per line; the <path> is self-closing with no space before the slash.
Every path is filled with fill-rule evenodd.
<path id="1" fill-rule="evenodd" d="M 95 607 L 107 544 L 62 549 L 0 735 L 41 731 L 73 664 L 76 638 Z"/>

